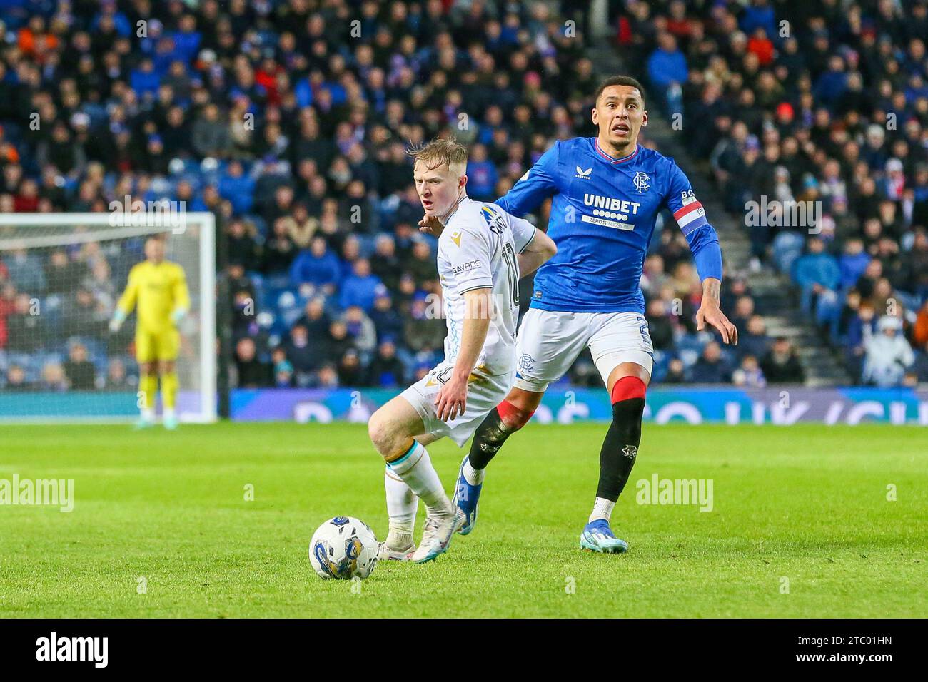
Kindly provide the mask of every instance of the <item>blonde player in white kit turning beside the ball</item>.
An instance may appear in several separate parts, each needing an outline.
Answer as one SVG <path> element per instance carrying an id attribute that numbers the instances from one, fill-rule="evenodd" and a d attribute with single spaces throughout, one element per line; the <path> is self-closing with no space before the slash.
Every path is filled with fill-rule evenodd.
<path id="1" fill-rule="evenodd" d="M 445 552 L 464 523 L 426 445 L 443 436 L 464 445 L 506 397 L 515 378 L 519 278 L 557 248 L 528 221 L 467 196 L 467 149 L 458 142 L 436 139 L 409 155 L 416 160 L 413 173 L 426 218 L 443 225 L 438 273 L 448 328 L 445 360 L 380 407 L 367 431 L 387 463 L 390 534 L 380 558 L 423 563 Z M 427 518 L 417 548 L 412 533 L 419 497 Z"/>

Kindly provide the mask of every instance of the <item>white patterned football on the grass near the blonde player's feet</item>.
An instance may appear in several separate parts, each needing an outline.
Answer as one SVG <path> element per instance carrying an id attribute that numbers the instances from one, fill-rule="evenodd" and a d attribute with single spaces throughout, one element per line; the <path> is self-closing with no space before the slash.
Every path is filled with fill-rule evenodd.
<path id="1" fill-rule="evenodd" d="M 377 536 L 364 521 L 336 516 L 316 529 L 309 541 L 309 562 L 320 578 L 367 578 L 377 566 Z"/>

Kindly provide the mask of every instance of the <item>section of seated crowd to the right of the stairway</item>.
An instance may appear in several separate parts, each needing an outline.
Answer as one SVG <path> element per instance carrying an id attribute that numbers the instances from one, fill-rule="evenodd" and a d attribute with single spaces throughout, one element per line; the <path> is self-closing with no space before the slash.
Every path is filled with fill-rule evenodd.
<path id="1" fill-rule="evenodd" d="M 792 278 L 858 381 L 928 380 L 928 3 L 744 5 L 631 0 L 618 41 L 728 210 L 773 207 L 741 221 L 753 269 Z"/>

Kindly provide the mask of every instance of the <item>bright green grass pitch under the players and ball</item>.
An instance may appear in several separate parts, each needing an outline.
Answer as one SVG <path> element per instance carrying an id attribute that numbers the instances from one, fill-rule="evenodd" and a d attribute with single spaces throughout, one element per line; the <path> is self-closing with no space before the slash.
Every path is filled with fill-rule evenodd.
<path id="1" fill-rule="evenodd" d="M 612 556 L 577 547 L 604 430 L 526 428 L 473 534 L 353 585 L 307 545 L 338 514 L 386 533 L 363 425 L 2 426 L 0 479 L 73 479 L 75 504 L 0 506 L 0 616 L 928 615 L 923 429 L 645 425 Z M 429 449 L 450 490 L 462 451 Z M 713 510 L 638 504 L 654 473 L 711 479 Z"/>

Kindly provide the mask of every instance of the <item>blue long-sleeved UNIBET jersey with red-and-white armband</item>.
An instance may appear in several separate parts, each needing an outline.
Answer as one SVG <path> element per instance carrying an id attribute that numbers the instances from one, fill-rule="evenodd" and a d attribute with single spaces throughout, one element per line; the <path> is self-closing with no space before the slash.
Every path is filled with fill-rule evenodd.
<path id="1" fill-rule="evenodd" d="M 558 252 L 538 269 L 533 308 L 643 315 L 641 271 L 664 208 L 689 241 L 700 277 L 722 277 L 718 238 L 690 181 L 652 149 L 638 145 L 614 159 L 596 137 L 555 142 L 496 203 L 522 216 L 548 197 L 548 237 Z"/>

